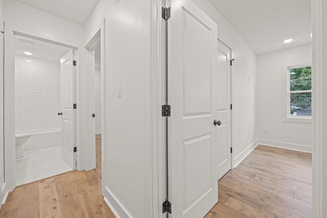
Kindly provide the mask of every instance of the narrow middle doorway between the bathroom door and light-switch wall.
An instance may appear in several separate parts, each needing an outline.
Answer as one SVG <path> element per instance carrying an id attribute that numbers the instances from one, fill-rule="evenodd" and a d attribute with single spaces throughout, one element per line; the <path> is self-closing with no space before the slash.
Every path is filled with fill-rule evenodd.
<path id="1" fill-rule="evenodd" d="M 105 19 L 99 23 L 96 32 L 89 35 L 85 45 L 85 104 L 86 104 L 86 164 L 85 170 L 94 169 L 97 174 L 105 175 L 106 141 L 106 104 L 105 104 Z M 102 172 L 102 173 L 101 173 Z M 105 184 L 102 177 L 102 184 Z"/>

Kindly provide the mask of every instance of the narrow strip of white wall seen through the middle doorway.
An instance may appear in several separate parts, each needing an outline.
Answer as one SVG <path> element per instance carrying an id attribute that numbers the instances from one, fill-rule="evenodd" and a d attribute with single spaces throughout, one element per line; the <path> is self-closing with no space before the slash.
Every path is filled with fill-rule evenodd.
<path id="1" fill-rule="evenodd" d="M 97 58 L 97 57 L 96 57 Z M 99 57 L 100 58 L 100 57 Z M 96 133 L 101 133 L 101 75 L 100 69 L 95 72 L 95 88 L 96 88 Z"/>

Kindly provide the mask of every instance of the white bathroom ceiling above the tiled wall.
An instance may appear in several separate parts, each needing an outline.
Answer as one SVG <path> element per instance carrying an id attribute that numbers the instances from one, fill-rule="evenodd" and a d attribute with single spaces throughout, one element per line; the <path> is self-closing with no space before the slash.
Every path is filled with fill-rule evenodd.
<path id="1" fill-rule="evenodd" d="M 26 56 L 27 60 L 32 57 L 60 62 L 60 58 L 72 50 L 66 46 L 20 35 L 15 35 L 14 42 L 15 54 Z M 24 52 L 31 52 L 32 55 L 26 55 Z"/>

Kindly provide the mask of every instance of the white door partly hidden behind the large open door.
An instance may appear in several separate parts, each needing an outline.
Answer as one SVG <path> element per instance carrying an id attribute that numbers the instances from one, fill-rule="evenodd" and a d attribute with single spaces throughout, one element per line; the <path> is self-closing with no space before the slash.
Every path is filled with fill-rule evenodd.
<path id="1" fill-rule="evenodd" d="M 231 168 L 230 153 L 230 49 L 218 40 L 218 88 L 217 117 L 221 125 L 217 127 L 218 179 Z"/>

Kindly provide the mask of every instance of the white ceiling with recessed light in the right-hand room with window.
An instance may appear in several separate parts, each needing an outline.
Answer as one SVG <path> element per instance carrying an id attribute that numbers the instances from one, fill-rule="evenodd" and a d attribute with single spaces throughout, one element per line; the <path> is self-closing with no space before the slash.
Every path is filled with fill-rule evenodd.
<path id="1" fill-rule="evenodd" d="M 257 55 L 311 43 L 311 0 L 208 1 Z"/>

